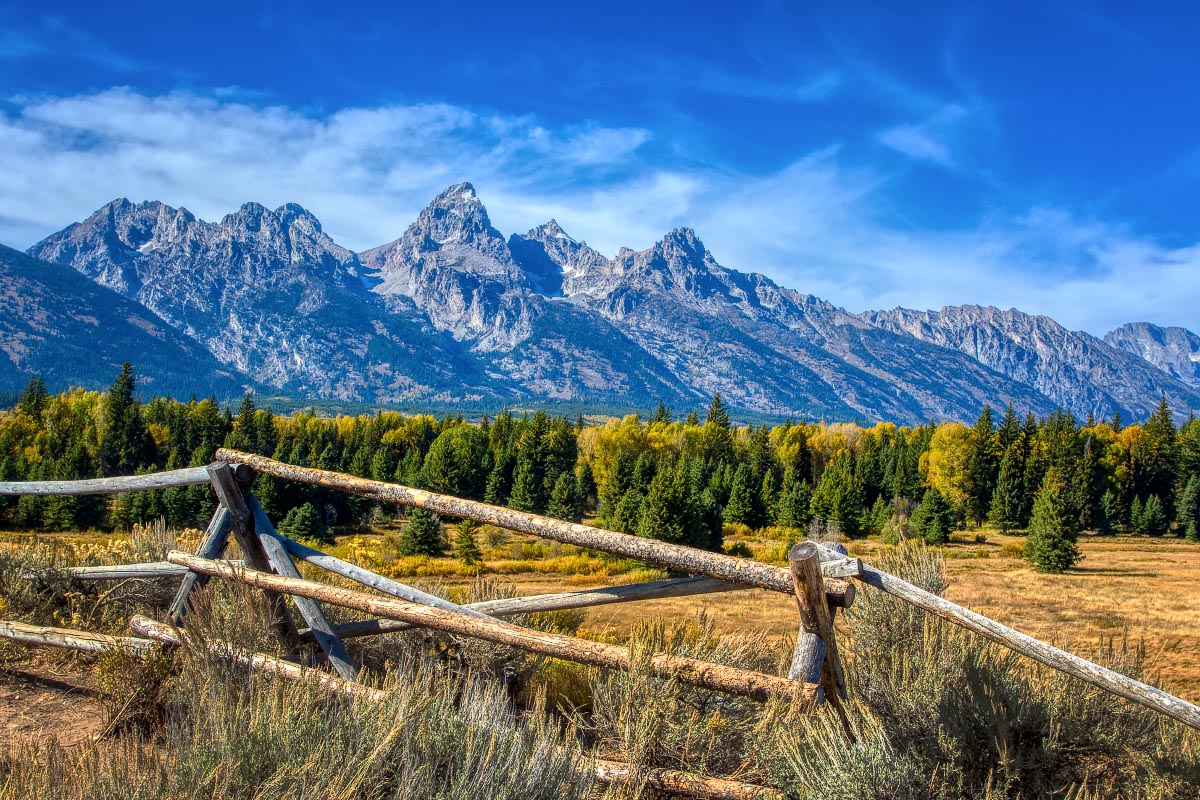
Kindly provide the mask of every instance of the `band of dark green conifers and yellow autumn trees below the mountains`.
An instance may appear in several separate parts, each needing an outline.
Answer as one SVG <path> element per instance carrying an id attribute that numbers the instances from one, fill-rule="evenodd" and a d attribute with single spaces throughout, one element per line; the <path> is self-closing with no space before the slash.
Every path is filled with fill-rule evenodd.
<path id="1" fill-rule="evenodd" d="M 715 396 L 704 419 L 670 409 L 586 422 L 500 410 L 480 422 L 379 411 L 280 416 L 246 396 L 137 396 L 125 365 L 107 392 L 52 396 L 35 377 L 0 414 L 0 480 L 73 480 L 208 464 L 217 447 L 394 481 L 641 536 L 720 549 L 727 525 L 930 543 L 961 528 L 1200 539 L 1200 420 L 1166 402 L 1145 421 L 1046 419 L 985 407 L 973 426 L 787 421 L 734 426 Z M 320 539 L 392 513 L 356 498 L 259 477 L 268 513 Z M 160 517 L 199 525 L 206 486 L 104 498 L 0 498 L 6 529 L 125 529 Z M 1038 509 L 1042 509 L 1039 512 Z M 1039 516 L 1040 522 L 1039 522 Z M 1033 523 L 1031 525 L 1031 523 Z M 439 554 L 439 536 L 409 543 Z M 1066 564 L 1069 566 L 1069 563 Z"/>

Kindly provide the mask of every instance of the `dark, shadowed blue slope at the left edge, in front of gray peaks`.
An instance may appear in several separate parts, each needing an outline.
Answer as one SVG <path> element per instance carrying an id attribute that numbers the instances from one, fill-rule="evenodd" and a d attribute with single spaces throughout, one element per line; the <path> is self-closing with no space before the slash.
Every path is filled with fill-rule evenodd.
<path id="1" fill-rule="evenodd" d="M 241 375 L 142 305 L 0 245 L 0 390 L 22 389 L 34 374 L 55 389 L 103 389 L 127 360 L 152 393 L 245 390 Z"/>

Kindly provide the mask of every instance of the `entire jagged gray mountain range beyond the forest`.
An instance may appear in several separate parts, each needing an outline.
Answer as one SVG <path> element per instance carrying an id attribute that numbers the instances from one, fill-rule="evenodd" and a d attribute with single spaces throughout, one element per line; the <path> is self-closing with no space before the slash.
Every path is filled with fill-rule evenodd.
<path id="1" fill-rule="evenodd" d="M 0 389 L 37 371 L 95 384 L 119 348 L 160 386 L 366 403 L 697 408 L 720 392 L 764 415 L 904 423 L 971 420 L 984 403 L 1142 419 L 1165 397 L 1200 410 L 1200 338 L 1184 329 L 1139 323 L 1100 339 L 1015 309 L 852 314 L 722 266 L 686 228 L 613 258 L 553 219 L 505 237 L 470 184 L 361 253 L 295 204 L 248 203 L 212 223 L 125 199 L 28 253 L 0 252 L 23 276 L 2 295 L 22 324 L 0 329 Z M 54 308 L 64 275 L 79 285 Z M 160 335 L 109 330 L 132 318 Z M 95 369 L 44 366 L 89 348 Z"/>

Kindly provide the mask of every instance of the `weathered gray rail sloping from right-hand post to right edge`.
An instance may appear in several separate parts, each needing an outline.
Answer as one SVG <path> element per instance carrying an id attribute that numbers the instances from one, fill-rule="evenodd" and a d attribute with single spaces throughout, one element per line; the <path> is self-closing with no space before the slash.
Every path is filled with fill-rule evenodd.
<path id="1" fill-rule="evenodd" d="M 826 551 L 826 554 L 832 552 L 826 546 L 820 547 L 822 551 Z M 1172 720 L 1200 730 L 1200 708 L 1169 692 L 1164 692 L 1157 686 L 1144 684 L 1140 680 L 1134 680 L 1118 672 L 1092 663 L 1073 652 L 1060 650 L 1045 642 L 1034 639 L 1032 636 L 1015 631 L 1007 625 L 1001 625 L 994 619 L 978 614 L 970 608 L 952 603 L 943 597 L 938 597 L 919 587 L 914 587 L 907 581 L 876 570 L 875 567 L 865 567 L 860 579 L 870 587 L 900 597 L 917 608 L 986 637 L 1051 669 L 1057 669 L 1092 686 L 1099 686 L 1105 691 L 1134 703 L 1140 703 L 1148 709 L 1165 714 Z"/>

